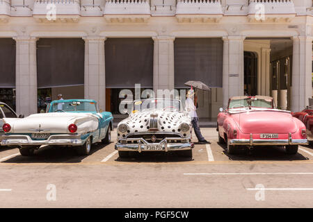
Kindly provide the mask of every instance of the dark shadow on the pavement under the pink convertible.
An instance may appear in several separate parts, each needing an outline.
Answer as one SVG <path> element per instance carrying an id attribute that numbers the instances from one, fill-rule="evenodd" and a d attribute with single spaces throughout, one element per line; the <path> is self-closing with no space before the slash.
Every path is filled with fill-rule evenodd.
<path id="1" fill-rule="evenodd" d="M 218 143 L 219 144 L 219 143 Z M 277 161 L 294 161 L 294 160 L 309 160 L 308 157 L 296 153 L 290 155 L 285 152 L 283 146 L 255 146 L 252 151 L 247 147 L 240 149 L 236 154 L 228 154 L 226 152 L 226 144 L 219 144 L 223 149 L 223 153 L 230 160 L 252 161 L 252 160 L 277 160 Z"/>

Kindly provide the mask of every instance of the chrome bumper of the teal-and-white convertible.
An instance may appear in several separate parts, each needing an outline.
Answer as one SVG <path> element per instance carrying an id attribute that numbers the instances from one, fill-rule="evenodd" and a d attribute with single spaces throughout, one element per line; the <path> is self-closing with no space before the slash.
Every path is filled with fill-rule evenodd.
<path id="1" fill-rule="evenodd" d="M 33 140 L 29 135 L 3 135 L 1 146 L 81 146 L 84 144 L 80 135 L 51 135 L 45 140 Z"/>

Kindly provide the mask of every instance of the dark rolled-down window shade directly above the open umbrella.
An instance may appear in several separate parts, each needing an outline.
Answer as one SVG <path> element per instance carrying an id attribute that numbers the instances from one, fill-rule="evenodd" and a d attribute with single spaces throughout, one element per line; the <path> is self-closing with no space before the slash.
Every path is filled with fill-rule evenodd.
<path id="1" fill-rule="evenodd" d="M 177 38 L 174 43 L 175 87 L 198 80 L 210 87 L 223 87 L 223 40 Z"/>

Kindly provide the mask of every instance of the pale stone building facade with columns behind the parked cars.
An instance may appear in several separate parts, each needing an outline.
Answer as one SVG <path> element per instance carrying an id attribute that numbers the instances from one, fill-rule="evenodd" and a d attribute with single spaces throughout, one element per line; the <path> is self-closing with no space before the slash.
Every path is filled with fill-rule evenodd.
<path id="1" fill-rule="evenodd" d="M 49 21 L 46 17 L 48 10 L 43 9 L 42 12 L 33 15 L 29 8 L 32 9 L 34 3 L 38 3 L 38 1 L 27 0 L 29 8 L 14 6 L 12 10 L 0 15 L 0 37 L 15 37 L 17 40 L 17 112 L 29 114 L 37 111 L 34 53 L 35 39 L 38 37 L 85 38 L 85 96 L 98 100 L 100 108 L 104 108 L 105 69 L 104 47 L 102 47 L 104 40 L 93 40 L 95 36 L 153 37 L 155 44 L 154 89 L 166 87 L 171 89 L 174 87 L 172 47 L 174 37 L 223 38 L 225 46 L 223 56 L 224 106 L 230 96 L 243 94 L 243 46 L 245 38 L 300 37 L 299 40 L 295 41 L 294 73 L 299 78 L 305 78 L 305 82 L 300 83 L 298 81 L 297 84 L 296 76 L 294 76 L 296 84 L 293 85 L 292 89 L 292 101 L 294 101 L 292 110 L 301 110 L 307 104 L 307 98 L 312 96 L 311 85 L 309 86 L 309 83 L 311 84 L 310 65 L 312 62 L 312 1 L 294 0 L 294 8 L 290 10 L 294 13 L 287 15 L 284 14 L 286 10 L 284 2 L 275 5 L 270 1 L 266 2 L 273 4 L 273 7 L 275 6 L 273 8 L 275 14 L 266 14 L 264 21 L 257 20 L 255 15 L 249 15 L 251 6 L 248 5 L 248 1 L 243 0 L 216 1 L 214 8 L 216 8 L 218 15 L 210 10 L 204 10 L 202 15 L 198 15 L 192 10 L 188 12 L 188 15 L 183 13 L 178 15 L 175 7 L 164 7 L 161 13 L 152 10 L 154 4 L 161 4 L 160 1 L 155 1 L 155 3 L 141 1 L 140 7 L 145 8 L 142 14 L 140 10 L 139 14 L 131 13 L 138 11 L 138 8 L 134 8 L 136 4 L 127 5 L 127 12 L 123 11 L 125 8 L 113 7 L 115 14 L 113 11 L 105 14 L 106 4 L 104 0 L 96 1 L 100 5 L 99 7 L 81 7 L 80 15 L 76 15 L 79 5 L 75 1 L 74 7 L 69 7 L 70 5 L 63 7 L 67 15 L 57 14 L 56 20 Z M 17 4 L 17 1 L 12 1 L 12 3 Z M 165 3 L 173 4 L 172 1 L 165 1 Z M 183 1 L 181 3 L 184 5 Z M 219 3 L 220 7 L 218 7 Z M 83 1 L 83 4 L 88 5 L 88 1 Z M 150 6 L 148 7 L 150 12 L 147 10 L 147 4 Z M 205 7 L 209 6 L 211 5 L 208 3 Z M 196 9 L 196 7 L 191 8 Z M 268 65 L 268 49 L 261 50 L 259 53 L 260 58 L 262 58 L 262 66 L 259 71 L 262 76 L 259 80 L 259 93 L 268 94 L 268 67 L 264 67 L 266 64 Z M 29 78 L 24 80 L 26 76 Z M 216 102 L 217 104 L 220 103 L 220 101 Z"/>

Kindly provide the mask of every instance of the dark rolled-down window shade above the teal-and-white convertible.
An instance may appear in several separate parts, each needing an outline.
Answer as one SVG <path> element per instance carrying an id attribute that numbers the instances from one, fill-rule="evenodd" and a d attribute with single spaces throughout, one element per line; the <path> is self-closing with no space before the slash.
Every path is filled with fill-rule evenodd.
<path id="1" fill-rule="evenodd" d="M 38 88 L 83 85 L 85 43 L 79 38 L 37 42 Z"/>

